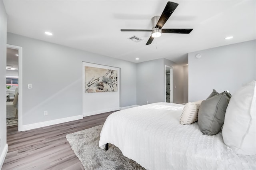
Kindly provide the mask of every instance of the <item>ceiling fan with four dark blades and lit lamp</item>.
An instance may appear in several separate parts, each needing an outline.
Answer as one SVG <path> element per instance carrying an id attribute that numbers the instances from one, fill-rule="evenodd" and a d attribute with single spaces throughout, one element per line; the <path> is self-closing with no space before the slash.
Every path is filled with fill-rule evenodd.
<path id="1" fill-rule="evenodd" d="M 121 31 L 139 31 L 139 32 L 151 32 L 151 36 L 148 39 L 146 45 L 152 43 L 154 38 L 160 37 L 162 33 L 174 33 L 174 34 L 189 34 L 193 29 L 162 29 L 166 21 L 170 18 L 174 10 L 177 8 L 178 4 L 174 2 L 167 2 L 164 11 L 161 16 L 154 16 L 151 18 L 151 30 L 125 30 L 121 29 Z"/>

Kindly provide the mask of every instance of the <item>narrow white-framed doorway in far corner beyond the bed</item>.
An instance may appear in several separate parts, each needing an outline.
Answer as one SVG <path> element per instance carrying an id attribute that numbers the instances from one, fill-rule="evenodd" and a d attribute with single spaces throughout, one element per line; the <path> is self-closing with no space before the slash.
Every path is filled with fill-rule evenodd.
<path id="1" fill-rule="evenodd" d="M 165 65 L 165 102 L 173 103 L 173 69 Z"/>

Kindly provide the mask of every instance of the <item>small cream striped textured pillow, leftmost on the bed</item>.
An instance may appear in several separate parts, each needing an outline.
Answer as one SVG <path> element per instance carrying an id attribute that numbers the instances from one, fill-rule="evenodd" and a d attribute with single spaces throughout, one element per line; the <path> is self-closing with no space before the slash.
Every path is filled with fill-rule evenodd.
<path id="1" fill-rule="evenodd" d="M 188 102 L 184 106 L 180 115 L 180 124 L 189 125 L 197 121 L 197 115 L 202 100 L 196 102 Z"/>

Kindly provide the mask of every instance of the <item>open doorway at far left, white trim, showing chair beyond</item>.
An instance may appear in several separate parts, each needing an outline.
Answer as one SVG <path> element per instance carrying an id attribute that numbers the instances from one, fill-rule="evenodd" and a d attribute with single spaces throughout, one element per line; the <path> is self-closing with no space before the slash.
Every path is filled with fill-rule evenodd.
<path id="1" fill-rule="evenodd" d="M 22 47 L 7 44 L 6 125 L 22 126 Z"/>

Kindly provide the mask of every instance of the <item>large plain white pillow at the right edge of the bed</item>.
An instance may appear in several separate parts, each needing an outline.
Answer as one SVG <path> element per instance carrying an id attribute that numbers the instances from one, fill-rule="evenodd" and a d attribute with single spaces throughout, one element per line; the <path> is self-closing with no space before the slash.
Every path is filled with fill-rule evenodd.
<path id="1" fill-rule="evenodd" d="M 230 99 L 222 129 L 224 143 L 236 154 L 256 154 L 255 81 L 239 89 Z"/>

